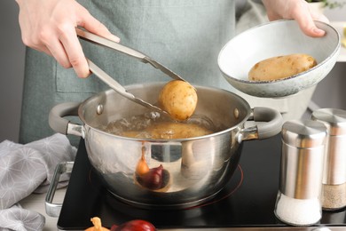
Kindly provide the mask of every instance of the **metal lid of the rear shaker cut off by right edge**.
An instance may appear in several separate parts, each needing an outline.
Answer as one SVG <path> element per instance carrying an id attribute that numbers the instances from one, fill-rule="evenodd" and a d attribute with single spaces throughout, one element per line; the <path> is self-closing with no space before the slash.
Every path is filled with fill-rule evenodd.
<path id="1" fill-rule="evenodd" d="M 335 108 L 322 108 L 311 115 L 313 120 L 324 122 L 329 135 L 346 135 L 346 111 Z"/>

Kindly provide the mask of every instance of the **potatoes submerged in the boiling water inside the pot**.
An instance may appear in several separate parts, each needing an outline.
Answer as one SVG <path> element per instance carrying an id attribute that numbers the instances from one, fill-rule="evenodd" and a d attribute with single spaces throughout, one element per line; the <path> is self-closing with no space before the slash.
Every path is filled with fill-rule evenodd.
<path id="1" fill-rule="evenodd" d="M 124 131 L 122 136 L 144 139 L 186 139 L 211 134 L 213 131 L 194 123 L 159 122 L 148 126 L 145 131 Z"/>

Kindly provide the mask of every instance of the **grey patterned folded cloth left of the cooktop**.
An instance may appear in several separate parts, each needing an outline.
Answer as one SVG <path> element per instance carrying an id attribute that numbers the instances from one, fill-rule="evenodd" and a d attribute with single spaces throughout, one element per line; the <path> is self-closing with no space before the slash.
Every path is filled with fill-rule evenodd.
<path id="1" fill-rule="evenodd" d="M 9 140 L 0 143 L 0 230 L 42 230 L 44 217 L 16 203 L 33 192 L 46 192 L 56 165 L 74 161 L 75 154 L 76 148 L 62 134 L 26 145 Z M 60 178 L 63 181 L 60 187 L 66 185 L 67 180 L 67 175 Z M 3 227 L 9 220 L 12 226 Z"/>

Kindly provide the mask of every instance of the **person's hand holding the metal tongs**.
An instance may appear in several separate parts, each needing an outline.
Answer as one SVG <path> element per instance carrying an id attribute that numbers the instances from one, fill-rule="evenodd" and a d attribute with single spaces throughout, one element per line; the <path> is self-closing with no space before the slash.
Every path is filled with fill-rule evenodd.
<path id="1" fill-rule="evenodd" d="M 79 77 L 90 75 L 87 60 L 75 33 L 77 26 L 119 42 L 101 22 L 75 0 L 16 0 L 20 6 L 23 43 L 53 56 Z"/>

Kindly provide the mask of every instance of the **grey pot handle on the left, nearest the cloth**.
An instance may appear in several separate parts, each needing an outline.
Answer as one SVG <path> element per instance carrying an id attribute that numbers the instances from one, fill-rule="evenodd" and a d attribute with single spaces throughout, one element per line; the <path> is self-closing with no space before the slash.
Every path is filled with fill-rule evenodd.
<path id="1" fill-rule="evenodd" d="M 61 134 L 72 134 L 83 137 L 83 126 L 75 123 L 70 123 L 65 116 L 78 116 L 78 108 L 80 102 L 66 102 L 56 105 L 51 108 L 48 122 L 51 129 Z"/>

